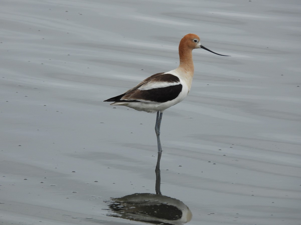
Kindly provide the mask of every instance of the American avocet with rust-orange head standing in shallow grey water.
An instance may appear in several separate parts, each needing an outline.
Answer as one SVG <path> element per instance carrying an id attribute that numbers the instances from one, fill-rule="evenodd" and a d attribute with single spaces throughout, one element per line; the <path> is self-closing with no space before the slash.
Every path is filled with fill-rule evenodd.
<path id="1" fill-rule="evenodd" d="M 105 100 L 105 102 L 113 102 L 111 105 L 127 106 L 148 113 L 157 112 L 155 131 L 158 153 L 162 152 L 160 125 L 163 111 L 181 102 L 188 95 L 194 73 L 192 50 L 198 48 L 221 55 L 201 45 L 197 35 L 185 35 L 179 44 L 180 64 L 178 68 L 169 72 L 154 74 L 122 95 Z"/>

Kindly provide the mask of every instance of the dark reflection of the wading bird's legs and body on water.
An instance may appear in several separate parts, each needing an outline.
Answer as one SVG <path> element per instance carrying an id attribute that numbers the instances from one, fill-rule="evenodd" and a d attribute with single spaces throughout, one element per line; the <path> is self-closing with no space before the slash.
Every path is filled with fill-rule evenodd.
<path id="1" fill-rule="evenodd" d="M 164 196 L 160 191 L 160 159 L 156 166 L 156 194 L 135 193 L 121 198 L 111 198 L 110 213 L 107 216 L 119 217 L 145 223 L 181 225 L 192 218 L 192 213 L 182 201 Z"/>

